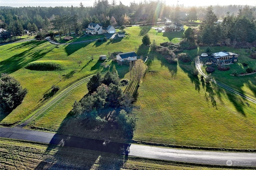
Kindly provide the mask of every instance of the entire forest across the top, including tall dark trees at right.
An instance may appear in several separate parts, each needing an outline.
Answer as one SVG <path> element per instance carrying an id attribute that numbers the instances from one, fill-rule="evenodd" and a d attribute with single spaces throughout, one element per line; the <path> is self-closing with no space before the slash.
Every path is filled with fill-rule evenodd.
<path id="1" fill-rule="evenodd" d="M 72 30 L 79 34 L 90 22 L 100 22 L 107 27 L 156 23 L 166 19 L 181 23 L 201 21 L 200 29 L 192 30 L 187 37 L 191 39 L 192 35 L 197 35 L 196 41 L 200 43 L 256 41 L 255 6 L 184 7 L 179 4 L 167 6 L 162 1 L 131 2 L 125 6 L 122 2 L 117 4 L 116 0 L 95 0 L 93 6 L 87 7 L 81 2 L 77 7 L 1 7 L 0 10 L 0 28 L 7 30 L 6 35 L 2 33 L 2 39 L 22 35 L 24 29 L 32 33 L 54 30 L 67 33 Z M 218 24 L 218 19 L 223 22 Z"/>

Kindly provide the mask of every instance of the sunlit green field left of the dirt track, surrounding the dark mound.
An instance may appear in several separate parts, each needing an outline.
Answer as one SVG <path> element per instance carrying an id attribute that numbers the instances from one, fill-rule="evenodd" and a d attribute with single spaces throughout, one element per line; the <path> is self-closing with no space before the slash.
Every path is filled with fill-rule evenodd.
<path id="1" fill-rule="evenodd" d="M 148 31 L 152 31 L 154 34 L 156 31 L 150 29 L 150 27 L 146 28 L 148 31 L 142 30 L 144 30 L 144 27 L 130 27 L 127 29 L 129 36 L 106 42 L 92 41 L 57 46 L 50 44 L 48 41 L 29 41 L 0 46 L 1 72 L 10 73 L 21 83 L 23 88 L 28 89 L 28 94 L 22 104 L 5 117 L 1 123 L 22 121 L 34 110 L 45 104 L 54 97 L 48 95 L 52 85 L 55 84 L 60 87 L 58 94 L 69 84 L 97 71 L 103 71 L 104 68 L 100 67 L 102 61 L 98 61 L 100 55 L 108 55 L 108 53 L 117 51 L 136 51 L 140 55 L 145 53 L 144 46 L 141 46 L 142 36 Z M 160 41 L 164 41 L 162 35 L 159 35 L 158 38 Z M 55 71 L 35 71 L 24 68 L 28 63 L 39 62 L 40 60 L 59 60 L 68 64 L 65 65 L 63 70 Z M 78 62 L 80 61 L 82 61 L 82 64 L 79 66 Z M 120 78 L 123 78 L 128 72 L 127 66 L 118 66 L 117 69 L 120 71 Z"/>

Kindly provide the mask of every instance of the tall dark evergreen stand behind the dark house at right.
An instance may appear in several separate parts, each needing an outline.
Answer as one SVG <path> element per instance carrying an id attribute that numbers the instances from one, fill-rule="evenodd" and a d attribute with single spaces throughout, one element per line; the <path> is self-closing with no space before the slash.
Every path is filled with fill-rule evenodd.
<path id="1" fill-rule="evenodd" d="M 188 28 L 184 38 L 198 45 L 255 47 L 256 17 L 248 6 L 239 10 L 238 15 L 226 13 L 222 22 L 218 22 L 213 7 L 207 7 L 206 17 L 199 29 Z M 246 44 L 250 43 L 250 44 Z"/>

